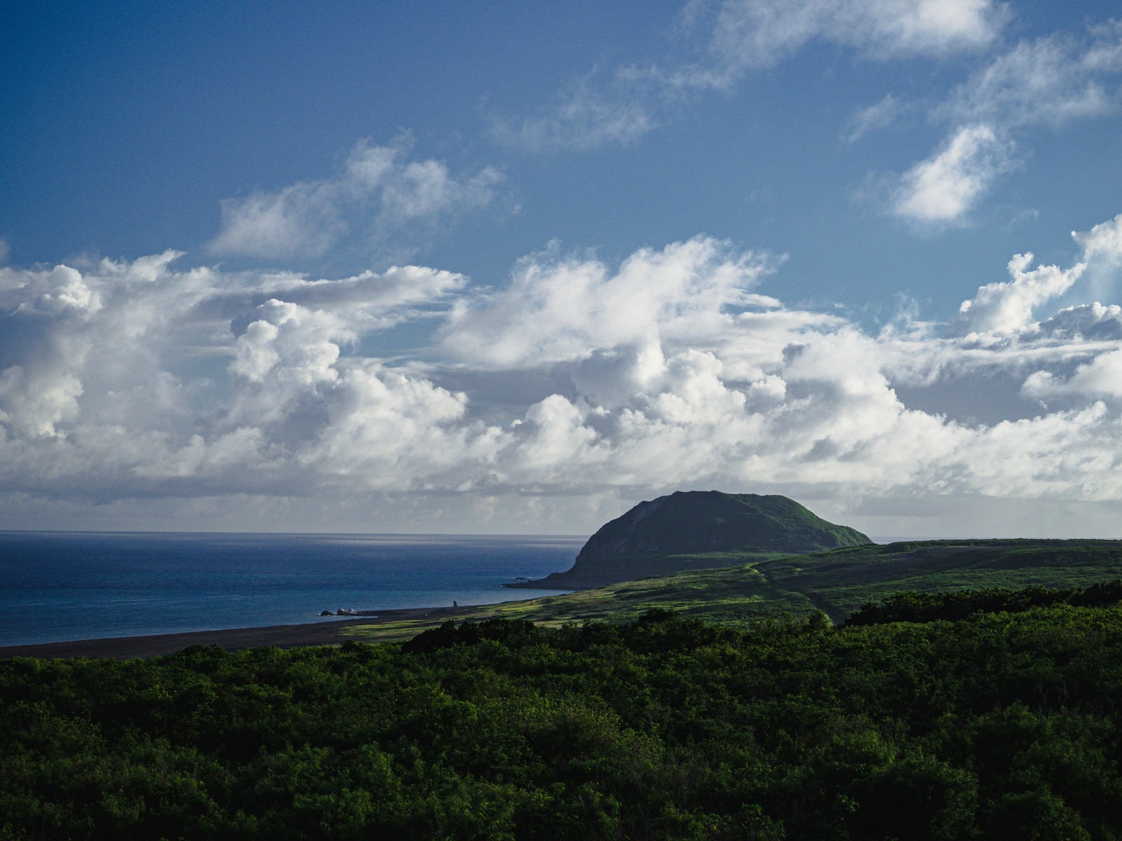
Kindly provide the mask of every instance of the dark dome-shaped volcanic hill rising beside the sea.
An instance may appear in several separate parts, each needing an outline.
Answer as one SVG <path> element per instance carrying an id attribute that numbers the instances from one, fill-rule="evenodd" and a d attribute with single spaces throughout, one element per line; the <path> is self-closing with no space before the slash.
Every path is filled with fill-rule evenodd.
<path id="1" fill-rule="evenodd" d="M 531 585 L 600 586 L 743 563 L 745 555 L 803 554 L 868 543 L 872 540 L 861 532 L 827 523 L 787 497 L 678 491 L 640 502 L 601 526 L 571 570 Z M 730 556 L 721 557 L 720 553 Z"/>

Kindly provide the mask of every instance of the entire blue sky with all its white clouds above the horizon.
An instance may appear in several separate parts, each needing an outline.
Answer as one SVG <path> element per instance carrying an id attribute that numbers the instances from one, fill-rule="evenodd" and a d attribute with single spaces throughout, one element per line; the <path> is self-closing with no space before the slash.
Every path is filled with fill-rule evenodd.
<path id="1" fill-rule="evenodd" d="M 1118 537 L 1112 3 L 0 10 L 0 527 Z"/>

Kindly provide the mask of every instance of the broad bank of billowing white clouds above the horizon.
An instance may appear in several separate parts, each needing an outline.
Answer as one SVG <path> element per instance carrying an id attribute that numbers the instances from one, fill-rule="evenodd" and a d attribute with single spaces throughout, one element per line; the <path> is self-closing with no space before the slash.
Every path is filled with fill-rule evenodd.
<path id="1" fill-rule="evenodd" d="M 420 266 L 180 269 L 174 251 L 0 268 L 0 505 L 226 499 L 273 528 L 301 506 L 426 507 L 569 532 L 675 488 L 858 521 L 885 500 L 1122 505 L 1122 314 L 1048 312 L 1118 271 L 1120 230 L 1075 234 L 1066 268 L 1014 257 L 949 324 L 879 332 L 784 306 L 761 290 L 780 259 L 706 237 L 614 266 L 551 246 L 491 289 Z M 403 326 L 429 348 L 365 350 Z M 980 422 L 971 396 L 1000 381 Z M 370 527 L 411 530 L 392 525 Z"/>

